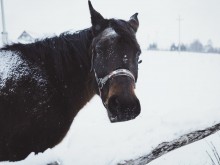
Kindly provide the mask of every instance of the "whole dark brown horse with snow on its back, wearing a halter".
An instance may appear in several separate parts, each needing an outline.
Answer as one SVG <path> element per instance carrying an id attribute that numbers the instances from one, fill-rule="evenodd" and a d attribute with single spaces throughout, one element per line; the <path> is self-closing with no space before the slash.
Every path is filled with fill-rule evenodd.
<path id="1" fill-rule="evenodd" d="M 0 161 L 54 147 L 95 94 L 111 122 L 139 115 L 137 14 L 104 19 L 89 9 L 91 28 L 0 50 Z"/>

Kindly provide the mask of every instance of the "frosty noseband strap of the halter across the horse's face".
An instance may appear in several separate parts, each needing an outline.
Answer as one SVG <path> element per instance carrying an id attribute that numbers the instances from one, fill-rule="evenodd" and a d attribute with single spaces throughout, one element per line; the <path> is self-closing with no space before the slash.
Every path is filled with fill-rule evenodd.
<path id="1" fill-rule="evenodd" d="M 94 70 L 95 72 L 95 70 Z M 96 82 L 98 84 L 99 90 L 103 88 L 103 86 L 106 84 L 106 82 L 111 79 L 112 77 L 117 77 L 117 76 L 127 76 L 130 77 L 134 82 L 135 82 L 135 77 L 134 75 L 127 69 L 117 69 L 115 71 L 112 71 L 108 75 L 106 75 L 103 78 L 98 78 L 96 72 L 95 72 L 95 78 Z"/>

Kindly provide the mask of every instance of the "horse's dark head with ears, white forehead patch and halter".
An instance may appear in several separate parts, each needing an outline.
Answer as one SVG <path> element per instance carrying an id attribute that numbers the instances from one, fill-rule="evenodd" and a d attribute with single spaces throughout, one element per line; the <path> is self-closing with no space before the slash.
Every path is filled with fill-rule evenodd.
<path id="1" fill-rule="evenodd" d="M 93 41 L 91 71 L 111 122 L 134 119 L 141 107 L 135 95 L 141 53 L 136 40 L 137 13 L 128 21 L 105 19 L 89 1 Z"/>

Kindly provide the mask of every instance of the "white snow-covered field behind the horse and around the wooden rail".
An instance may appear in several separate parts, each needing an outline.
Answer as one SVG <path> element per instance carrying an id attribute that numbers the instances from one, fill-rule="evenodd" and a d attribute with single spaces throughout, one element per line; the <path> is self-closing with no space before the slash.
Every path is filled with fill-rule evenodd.
<path id="1" fill-rule="evenodd" d="M 220 55 L 143 51 L 135 120 L 110 123 L 98 96 L 77 115 L 61 144 L 25 160 L 0 165 L 115 165 L 149 153 L 158 144 L 220 122 Z M 220 153 L 220 135 L 182 147 L 150 165 L 211 165 L 210 142 Z"/>

